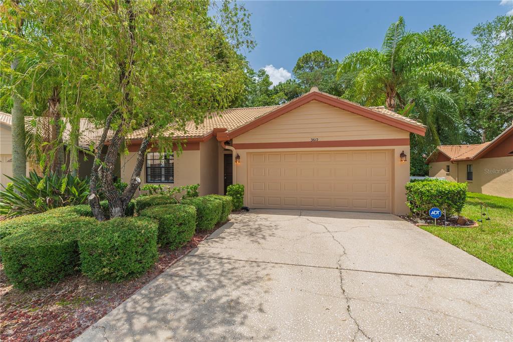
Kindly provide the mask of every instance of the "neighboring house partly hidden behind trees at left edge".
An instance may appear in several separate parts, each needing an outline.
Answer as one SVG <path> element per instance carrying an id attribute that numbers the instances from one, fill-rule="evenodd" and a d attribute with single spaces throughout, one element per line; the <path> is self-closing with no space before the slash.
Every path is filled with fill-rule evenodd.
<path id="1" fill-rule="evenodd" d="M 27 131 L 29 132 L 33 131 L 31 122 L 32 117 L 26 116 L 25 125 L 27 127 Z M 10 180 L 6 177 L 6 175 L 12 177 L 11 114 L 0 112 L 0 129 L 0 184 L 7 185 L 7 183 L 9 183 Z M 96 145 L 96 140 L 98 140 L 97 137 L 102 134 L 102 131 L 102 129 L 95 128 L 94 124 L 91 123 L 88 119 L 81 119 L 81 135 L 78 140 L 78 145 L 84 150 L 88 150 L 89 144 L 91 142 L 93 142 Z M 70 128 L 69 125 L 67 125 L 67 128 L 63 132 L 63 140 L 65 144 L 69 141 L 69 133 Z M 69 156 L 66 156 L 66 160 L 69 163 Z M 92 156 L 86 157 L 86 153 L 82 151 L 78 152 L 78 175 L 81 177 L 90 175 L 92 162 Z M 39 170 L 38 165 L 34 165 L 34 163 L 27 162 L 27 175 L 32 170 Z"/>

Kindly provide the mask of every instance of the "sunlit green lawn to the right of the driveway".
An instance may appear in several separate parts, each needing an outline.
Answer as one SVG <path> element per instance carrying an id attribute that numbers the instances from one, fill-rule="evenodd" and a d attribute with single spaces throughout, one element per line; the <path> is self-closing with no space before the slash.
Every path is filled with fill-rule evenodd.
<path id="1" fill-rule="evenodd" d="M 484 220 L 479 227 L 421 228 L 513 276 L 513 199 L 468 192 L 461 214 L 477 220 L 481 202 L 488 205 L 491 220 Z"/>

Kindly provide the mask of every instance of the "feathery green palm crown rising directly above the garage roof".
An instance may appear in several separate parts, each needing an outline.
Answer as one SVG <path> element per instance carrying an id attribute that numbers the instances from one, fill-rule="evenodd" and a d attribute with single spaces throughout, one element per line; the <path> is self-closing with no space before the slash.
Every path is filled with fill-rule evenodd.
<path id="1" fill-rule="evenodd" d="M 356 72 L 354 96 L 365 105 L 396 110 L 407 105 L 407 89 L 417 85 L 453 87 L 464 75 L 459 58 L 446 46 L 428 44 L 422 33 L 405 30 L 403 17 L 388 28 L 381 50 L 364 49 L 347 55 L 337 77 Z"/>

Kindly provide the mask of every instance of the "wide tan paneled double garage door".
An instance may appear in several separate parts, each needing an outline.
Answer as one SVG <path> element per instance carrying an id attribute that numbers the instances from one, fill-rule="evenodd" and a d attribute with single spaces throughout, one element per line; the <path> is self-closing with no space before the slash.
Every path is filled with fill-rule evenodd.
<path id="1" fill-rule="evenodd" d="M 248 154 L 251 208 L 391 212 L 391 151 Z"/>

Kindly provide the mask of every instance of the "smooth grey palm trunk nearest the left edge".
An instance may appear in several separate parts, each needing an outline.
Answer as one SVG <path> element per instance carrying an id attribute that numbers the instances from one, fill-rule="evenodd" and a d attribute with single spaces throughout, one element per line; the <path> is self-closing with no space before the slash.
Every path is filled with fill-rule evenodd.
<path id="1" fill-rule="evenodd" d="M 11 69 L 16 70 L 18 59 L 11 63 Z M 25 148 L 25 114 L 22 99 L 12 94 L 12 174 L 14 177 L 24 177 L 27 174 L 27 156 Z"/>

